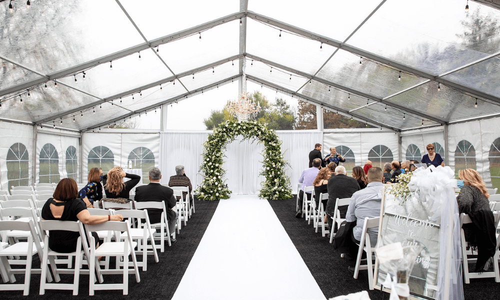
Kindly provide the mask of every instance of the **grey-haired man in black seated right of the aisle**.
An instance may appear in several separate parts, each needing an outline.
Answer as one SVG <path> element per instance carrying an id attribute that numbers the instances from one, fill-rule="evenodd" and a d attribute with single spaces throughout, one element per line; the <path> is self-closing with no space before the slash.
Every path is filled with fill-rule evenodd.
<path id="1" fill-rule="evenodd" d="M 335 168 L 335 176 L 331 176 L 328 179 L 328 201 L 326 202 L 326 214 L 329 216 L 326 220 L 328 222 L 328 228 L 332 227 L 332 219 L 333 213 L 335 212 L 335 203 L 337 198 L 350 198 L 350 196 L 359 190 L 359 183 L 357 180 L 347 176 L 347 172 L 345 171 L 345 167 L 343 165 L 339 165 Z M 345 218 L 345 212 L 347 211 L 347 206 L 338 206 L 338 210 L 340 211 L 340 217 Z M 330 232 L 334 232 L 330 230 Z"/>

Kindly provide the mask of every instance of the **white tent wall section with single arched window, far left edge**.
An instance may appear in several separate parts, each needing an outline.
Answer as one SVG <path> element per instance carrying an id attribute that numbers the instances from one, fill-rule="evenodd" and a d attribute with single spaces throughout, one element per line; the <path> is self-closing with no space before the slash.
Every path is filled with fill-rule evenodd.
<path id="1" fill-rule="evenodd" d="M 8 190 L 7 178 L 7 153 L 10 146 L 19 142 L 22 143 L 28 152 L 28 184 L 32 184 L 32 163 L 33 163 L 33 126 L 11 122 L 0 121 L 0 189 Z"/>

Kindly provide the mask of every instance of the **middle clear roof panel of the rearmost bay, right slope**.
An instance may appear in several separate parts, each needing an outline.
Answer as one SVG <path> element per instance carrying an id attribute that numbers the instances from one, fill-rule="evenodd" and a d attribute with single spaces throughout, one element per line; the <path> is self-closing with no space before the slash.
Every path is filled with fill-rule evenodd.
<path id="1" fill-rule="evenodd" d="M 366 104 L 366 98 L 349 95 L 334 88 L 330 88 L 328 91 L 327 85 L 314 80 L 311 81 L 311 84 L 305 84 L 299 93 L 343 110 L 354 109 Z"/>

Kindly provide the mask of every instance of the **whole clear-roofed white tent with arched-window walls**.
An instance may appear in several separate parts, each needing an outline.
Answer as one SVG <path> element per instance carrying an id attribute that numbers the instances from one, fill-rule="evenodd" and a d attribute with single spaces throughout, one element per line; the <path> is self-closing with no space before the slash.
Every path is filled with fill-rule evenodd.
<path id="1" fill-rule="evenodd" d="M 0 1 L 0 189 L 129 161 L 196 185 L 209 131 L 166 130 L 167 106 L 247 82 L 317 106 L 318 129 L 277 132 L 292 183 L 316 142 L 350 165 L 434 143 L 500 187 L 500 11 L 465 2 Z M 321 108 L 376 128 L 323 129 Z M 100 130 L 156 110 L 160 130 Z M 259 188 L 261 150 L 228 146 L 234 193 Z"/>

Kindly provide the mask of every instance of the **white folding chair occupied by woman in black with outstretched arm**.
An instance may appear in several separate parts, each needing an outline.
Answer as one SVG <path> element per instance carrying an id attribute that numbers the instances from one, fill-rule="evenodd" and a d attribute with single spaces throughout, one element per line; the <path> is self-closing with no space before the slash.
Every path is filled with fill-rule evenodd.
<path id="1" fill-rule="evenodd" d="M 90 250 L 88 248 L 86 238 L 85 238 L 85 233 L 83 231 L 83 225 L 81 224 L 80 221 L 74 222 L 74 221 L 59 221 L 59 220 L 41 220 L 40 221 L 40 228 L 41 230 L 60 230 L 61 228 L 64 228 L 66 231 L 73 231 L 73 232 L 79 232 L 80 236 L 78 237 L 78 240 L 76 241 L 76 250 L 71 253 L 59 253 L 56 251 L 53 251 L 48 248 L 48 235 L 45 235 L 44 239 L 44 244 L 47 245 L 43 248 L 43 258 L 41 262 L 41 278 L 40 278 L 40 295 L 45 293 L 45 289 L 72 289 L 73 290 L 73 295 L 78 294 L 78 283 L 79 283 L 79 276 L 81 274 L 88 274 L 88 270 L 81 270 L 81 261 L 82 261 L 82 256 L 85 254 L 85 258 L 88 259 Z M 54 274 L 60 274 L 60 273 L 73 273 L 73 283 L 48 283 L 45 279 L 46 273 L 47 273 L 47 259 L 52 256 L 67 256 L 68 260 L 72 259 L 72 257 L 75 257 L 74 260 L 74 268 L 70 269 L 71 266 L 68 266 L 67 269 L 58 269 L 57 266 L 55 266 L 55 270 L 52 269 Z M 59 280 L 55 280 L 58 282 Z"/>

